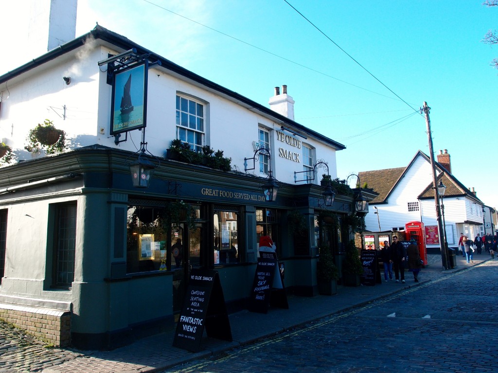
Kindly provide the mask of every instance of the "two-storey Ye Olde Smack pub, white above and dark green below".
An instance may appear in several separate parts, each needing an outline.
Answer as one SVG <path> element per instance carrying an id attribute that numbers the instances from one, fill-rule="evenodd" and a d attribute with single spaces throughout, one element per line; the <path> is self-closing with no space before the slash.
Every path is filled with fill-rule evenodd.
<path id="1" fill-rule="evenodd" d="M 246 308 L 263 235 L 287 293 L 316 295 L 318 245 L 339 257 L 351 238 L 318 222 L 355 213 L 353 195 L 326 206 L 320 185 L 345 147 L 294 121 L 286 86 L 266 107 L 97 25 L 0 76 L 0 91 L 13 154 L 0 169 L 0 317 L 57 346 L 174 327 L 193 268 L 218 271 L 229 313 Z M 67 150 L 25 150 L 46 118 Z M 230 167 L 177 159 L 173 140 Z"/>

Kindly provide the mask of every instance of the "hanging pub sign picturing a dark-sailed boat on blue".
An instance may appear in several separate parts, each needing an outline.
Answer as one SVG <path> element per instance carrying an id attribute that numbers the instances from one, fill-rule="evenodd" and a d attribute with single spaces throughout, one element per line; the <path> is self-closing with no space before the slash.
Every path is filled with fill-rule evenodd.
<path id="1" fill-rule="evenodd" d="M 111 135 L 145 127 L 148 62 L 114 74 L 111 100 Z"/>

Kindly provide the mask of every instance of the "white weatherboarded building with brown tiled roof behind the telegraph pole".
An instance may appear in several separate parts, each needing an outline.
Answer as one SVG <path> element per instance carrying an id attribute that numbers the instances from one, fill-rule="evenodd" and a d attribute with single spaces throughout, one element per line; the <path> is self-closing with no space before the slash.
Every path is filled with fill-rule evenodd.
<path id="1" fill-rule="evenodd" d="M 483 234 L 484 203 L 476 193 L 451 174 L 450 155 L 438 154 L 437 180 L 446 186 L 444 216 L 449 247 L 457 247 L 460 233 L 474 239 Z M 370 203 L 365 217 L 367 230 L 372 232 L 400 231 L 412 221 L 437 226 L 432 189 L 432 167 L 429 157 L 420 150 L 407 167 L 364 171 L 360 178 L 379 193 Z M 438 252 L 439 245 L 428 245 L 427 252 Z"/>

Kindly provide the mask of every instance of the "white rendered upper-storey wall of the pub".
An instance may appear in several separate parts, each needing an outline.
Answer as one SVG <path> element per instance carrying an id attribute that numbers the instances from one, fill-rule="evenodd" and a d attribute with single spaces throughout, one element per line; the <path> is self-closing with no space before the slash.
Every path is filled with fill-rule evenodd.
<path id="1" fill-rule="evenodd" d="M 110 136 L 111 86 L 106 83 L 107 67 L 99 69 L 97 63 L 106 59 L 109 53 L 121 52 L 91 42 L 75 53 L 67 53 L 7 82 L 9 95 L 2 101 L 0 137 L 12 147 L 17 160 L 32 157 L 24 150 L 25 139 L 29 130 L 45 118 L 53 120 L 56 128 L 66 131 L 71 148 L 100 144 L 132 152 L 139 149 L 142 135 L 139 130 L 130 131 L 128 141 L 119 145 L 115 145 L 114 136 Z M 71 83 L 66 85 L 63 77 L 71 77 Z M 304 140 L 293 135 L 290 136 L 296 139 L 294 145 L 278 141 L 277 131 L 281 131 L 281 124 L 271 117 L 254 113 L 220 94 L 176 78 L 163 68 L 154 67 L 148 72 L 145 141 L 147 149 L 157 157 L 163 157 L 171 140 L 176 138 L 177 93 L 204 102 L 205 145 L 223 150 L 226 157 L 232 158 L 233 169 L 244 171 L 244 158 L 253 157 L 252 141 L 258 140 L 258 128 L 263 126 L 270 130 L 273 176 L 279 181 L 294 184 L 294 172 L 303 171 L 302 143 L 315 148 L 316 159 L 327 162 L 330 175 L 336 177 L 334 148 L 312 138 Z M 124 134 L 121 139 L 124 139 Z M 298 142 L 300 146 L 295 146 Z M 279 149 L 299 154 L 298 162 L 296 157 L 294 160 L 281 157 Z M 255 171 L 258 175 L 258 168 Z M 315 183 L 320 181 L 321 174 L 317 174 Z"/>

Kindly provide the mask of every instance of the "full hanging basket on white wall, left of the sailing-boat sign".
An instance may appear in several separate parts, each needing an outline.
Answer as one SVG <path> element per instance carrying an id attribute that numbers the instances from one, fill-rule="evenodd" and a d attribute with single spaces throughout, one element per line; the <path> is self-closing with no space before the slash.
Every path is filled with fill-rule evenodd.
<path id="1" fill-rule="evenodd" d="M 45 149 L 47 154 L 54 154 L 66 150 L 66 132 L 54 127 L 51 120 L 45 119 L 43 124 L 38 123 L 29 130 L 26 138 L 28 145 L 24 147 L 28 152 L 36 153 Z"/>

